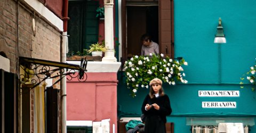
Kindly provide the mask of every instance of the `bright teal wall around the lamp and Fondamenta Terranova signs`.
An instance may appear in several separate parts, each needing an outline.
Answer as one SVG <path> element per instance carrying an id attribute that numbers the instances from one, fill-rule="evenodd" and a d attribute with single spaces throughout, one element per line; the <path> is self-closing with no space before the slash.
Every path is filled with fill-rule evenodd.
<path id="1" fill-rule="evenodd" d="M 188 84 L 164 85 L 169 95 L 174 132 L 190 132 L 187 117 L 255 117 L 256 92 L 250 85 L 240 88 L 240 77 L 249 71 L 256 57 L 256 1 L 174 0 L 174 56 L 182 56 Z M 226 44 L 214 44 L 221 17 Z M 129 96 L 124 73 L 118 73 L 118 115 L 141 114 L 140 107 L 148 89 Z M 239 90 L 240 97 L 198 97 L 198 90 Z M 203 109 L 202 102 L 236 102 L 236 109 Z M 256 132 L 256 126 L 251 132 Z"/>

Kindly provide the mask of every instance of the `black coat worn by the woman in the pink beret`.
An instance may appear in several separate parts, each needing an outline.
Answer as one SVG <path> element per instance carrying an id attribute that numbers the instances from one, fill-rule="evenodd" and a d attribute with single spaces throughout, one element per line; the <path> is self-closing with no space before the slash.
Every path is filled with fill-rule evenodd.
<path id="1" fill-rule="evenodd" d="M 160 108 L 159 110 L 154 109 L 154 107 L 151 107 L 149 110 L 145 110 L 146 104 L 154 104 L 156 103 Z M 143 114 L 145 114 L 145 132 L 155 132 L 155 133 L 161 133 L 166 132 L 165 131 L 165 123 L 166 123 L 166 115 L 170 115 L 172 112 L 170 99 L 167 95 L 159 96 L 150 98 L 149 95 L 147 95 L 143 101 L 143 104 L 141 106 L 141 111 Z"/>

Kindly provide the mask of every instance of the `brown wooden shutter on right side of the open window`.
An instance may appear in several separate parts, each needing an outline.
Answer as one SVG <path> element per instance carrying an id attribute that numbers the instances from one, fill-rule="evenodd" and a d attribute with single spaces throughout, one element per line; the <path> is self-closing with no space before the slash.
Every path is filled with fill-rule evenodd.
<path id="1" fill-rule="evenodd" d="M 159 52 L 174 58 L 173 0 L 159 1 Z"/>

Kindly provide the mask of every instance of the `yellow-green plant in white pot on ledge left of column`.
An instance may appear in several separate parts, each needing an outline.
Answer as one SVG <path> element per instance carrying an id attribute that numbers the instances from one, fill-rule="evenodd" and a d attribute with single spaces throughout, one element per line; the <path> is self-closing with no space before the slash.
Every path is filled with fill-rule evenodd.
<path id="1" fill-rule="evenodd" d="M 104 43 L 96 43 L 89 46 L 89 50 L 87 52 L 92 53 L 92 56 L 102 56 L 102 52 L 106 51 Z"/>

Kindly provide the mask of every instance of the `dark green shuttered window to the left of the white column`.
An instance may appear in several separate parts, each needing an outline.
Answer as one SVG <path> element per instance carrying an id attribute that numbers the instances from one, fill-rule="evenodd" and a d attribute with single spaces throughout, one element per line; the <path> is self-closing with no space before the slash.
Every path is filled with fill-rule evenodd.
<path id="1" fill-rule="evenodd" d="M 98 1 L 69 1 L 68 45 L 69 51 L 83 52 L 98 41 L 99 22 L 95 10 Z"/>

